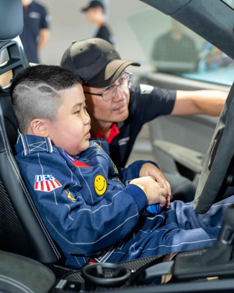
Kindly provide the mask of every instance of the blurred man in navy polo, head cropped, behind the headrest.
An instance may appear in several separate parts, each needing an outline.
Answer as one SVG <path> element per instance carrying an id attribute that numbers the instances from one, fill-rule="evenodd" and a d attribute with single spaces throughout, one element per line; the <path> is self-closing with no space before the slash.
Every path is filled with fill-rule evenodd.
<path id="1" fill-rule="evenodd" d="M 32 0 L 22 0 L 24 28 L 20 35 L 29 62 L 39 63 L 37 52 L 49 42 L 49 18 L 46 9 Z"/>

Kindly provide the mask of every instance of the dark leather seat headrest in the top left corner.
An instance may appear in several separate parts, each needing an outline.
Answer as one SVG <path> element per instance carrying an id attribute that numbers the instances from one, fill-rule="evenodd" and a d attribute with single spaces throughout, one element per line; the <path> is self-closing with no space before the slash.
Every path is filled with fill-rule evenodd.
<path id="1" fill-rule="evenodd" d="M 23 7 L 21 0 L 0 1 L 0 41 L 12 40 L 23 30 Z"/>

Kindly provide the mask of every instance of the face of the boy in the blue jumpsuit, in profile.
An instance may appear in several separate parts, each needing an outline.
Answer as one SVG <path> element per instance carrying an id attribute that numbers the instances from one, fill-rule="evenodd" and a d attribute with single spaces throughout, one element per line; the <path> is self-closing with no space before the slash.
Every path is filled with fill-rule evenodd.
<path id="1" fill-rule="evenodd" d="M 63 105 L 57 119 L 47 121 L 46 128 L 52 144 L 70 155 L 77 155 L 89 147 L 90 116 L 86 111 L 85 96 L 80 84 L 59 92 Z"/>

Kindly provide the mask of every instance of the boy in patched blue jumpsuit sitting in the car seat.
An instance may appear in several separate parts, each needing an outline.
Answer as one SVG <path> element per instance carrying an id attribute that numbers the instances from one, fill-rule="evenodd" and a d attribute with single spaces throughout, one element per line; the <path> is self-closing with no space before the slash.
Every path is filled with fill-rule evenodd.
<path id="1" fill-rule="evenodd" d="M 118 262 L 212 245 L 234 198 L 205 215 L 197 215 L 192 203 L 175 201 L 145 217 L 147 205 L 169 207 L 168 190 L 148 176 L 157 166 L 136 161 L 117 169 L 105 140 L 89 142 L 90 117 L 72 71 L 27 68 L 14 77 L 11 96 L 20 130 L 16 161 L 66 265 L 81 268 L 89 258 Z"/>

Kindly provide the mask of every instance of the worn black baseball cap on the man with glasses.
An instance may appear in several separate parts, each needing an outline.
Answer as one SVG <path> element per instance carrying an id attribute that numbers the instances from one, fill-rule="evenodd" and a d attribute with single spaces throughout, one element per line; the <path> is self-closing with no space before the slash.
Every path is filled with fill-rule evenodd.
<path id="1" fill-rule="evenodd" d="M 140 66 L 137 62 L 121 60 L 115 47 L 99 38 L 73 41 L 60 65 L 80 75 L 84 85 L 94 88 L 113 84 L 128 65 Z"/>

